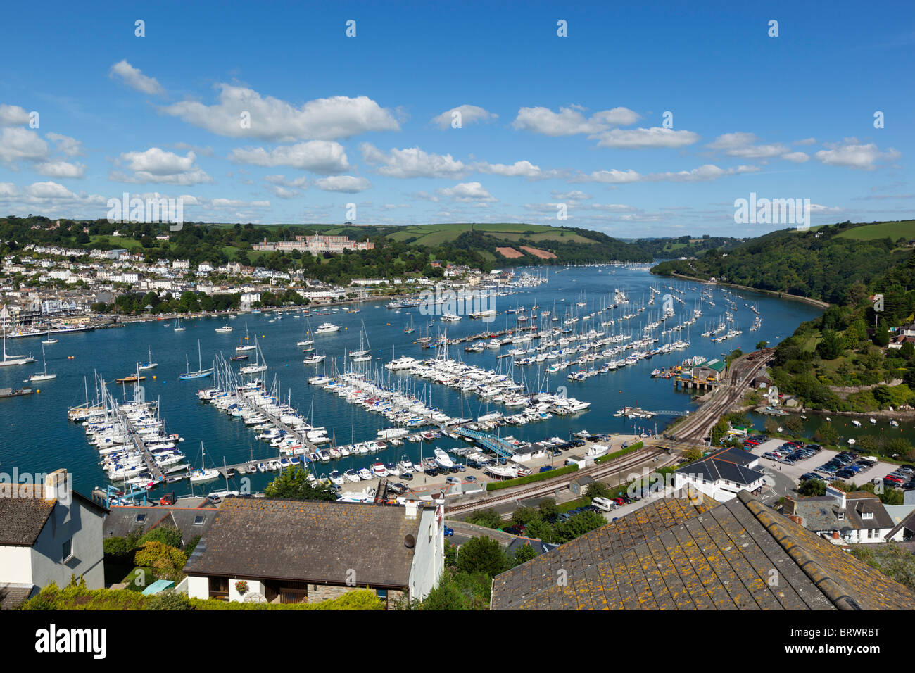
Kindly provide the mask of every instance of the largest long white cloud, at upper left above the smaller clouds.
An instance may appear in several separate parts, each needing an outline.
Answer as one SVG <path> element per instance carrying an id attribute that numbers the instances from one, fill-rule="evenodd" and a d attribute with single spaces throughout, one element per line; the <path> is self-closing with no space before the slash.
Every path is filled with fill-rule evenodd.
<path id="1" fill-rule="evenodd" d="M 231 84 L 218 86 L 221 92 L 215 105 L 185 101 L 167 105 L 162 112 L 219 136 L 278 142 L 333 140 L 369 131 L 400 130 L 391 111 L 367 96 L 318 98 L 296 108 L 252 89 Z M 242 126 L 242 113 L 250 114 L 247 128 Z"/>

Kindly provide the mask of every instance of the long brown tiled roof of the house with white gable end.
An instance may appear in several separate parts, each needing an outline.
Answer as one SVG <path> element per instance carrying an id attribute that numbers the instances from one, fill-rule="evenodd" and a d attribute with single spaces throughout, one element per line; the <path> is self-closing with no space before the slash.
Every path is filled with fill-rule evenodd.
<path id="1" fill-rule="evenodd" d="M 404 588 L 423 508 L 409 519 L 399 506 L 265 498 L 223 501 L 184 571 L 252 580 Z"/>

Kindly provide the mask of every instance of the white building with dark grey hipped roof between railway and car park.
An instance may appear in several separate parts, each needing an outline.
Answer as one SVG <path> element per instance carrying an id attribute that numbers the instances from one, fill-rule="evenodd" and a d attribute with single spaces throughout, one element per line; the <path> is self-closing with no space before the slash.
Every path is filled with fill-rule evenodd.
<path id="1" fill-rule="evenodd" d="M 741 491 L 759 494 L 766 475 L 757 470 L 759 456 L 740 449 L 723 449 L 673 472 L 673 488 L 692 487 L 718 502 L 737 497 Z"/>

